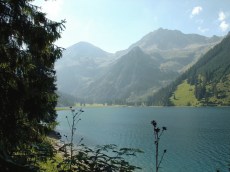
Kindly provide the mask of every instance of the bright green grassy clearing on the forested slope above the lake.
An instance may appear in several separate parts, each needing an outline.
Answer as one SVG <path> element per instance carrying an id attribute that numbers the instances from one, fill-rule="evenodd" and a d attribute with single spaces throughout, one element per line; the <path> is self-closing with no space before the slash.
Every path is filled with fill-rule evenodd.
<path id="1" fill-rule="evenodd" d="M 175 106 L 200 106 L 200 102 L 194 95 L 194 90 L 195 86 L 188 84 L 185 80 L 178 85 L 170 100 Z"/>

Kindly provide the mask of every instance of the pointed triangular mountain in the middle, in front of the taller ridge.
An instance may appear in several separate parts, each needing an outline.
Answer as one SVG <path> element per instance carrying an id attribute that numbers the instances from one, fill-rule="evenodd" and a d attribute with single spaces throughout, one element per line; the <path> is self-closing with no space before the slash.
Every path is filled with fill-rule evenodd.
<path id="1" fill-rule="evenodd" d="M 158 66 L 158 61 L 141 48 L 134 47 L 91 83 L 87 98 L 99 102 L 133 102 L 137 96 L 170 83 L 178 75 L 176 72 L 162 71 Z"/>

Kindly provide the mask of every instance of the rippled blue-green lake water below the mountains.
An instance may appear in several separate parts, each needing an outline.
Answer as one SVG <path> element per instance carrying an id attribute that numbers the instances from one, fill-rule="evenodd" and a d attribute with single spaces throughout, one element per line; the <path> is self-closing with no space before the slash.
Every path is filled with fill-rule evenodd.
<path id="1" fill-rule="evenodd" d="M 106 107 L 84 108 L 77 124 L 76 140 L 84 138 L 88 146 L 117 144 L 140 148 L 143 154 L 129 160 L 153 172 L 154 135 L 152 120 L 167 131 L 160 140 L 160 150 L 167 149 L 160 172 L 227 172 L 230 167 L 229 107 Z M 66 115 L 58 111 L 57 131 L 67 134 Z M 64 138 L 63 138 L 64 139 Z M 161 152 L 160 151 L 160 152 Z"/>

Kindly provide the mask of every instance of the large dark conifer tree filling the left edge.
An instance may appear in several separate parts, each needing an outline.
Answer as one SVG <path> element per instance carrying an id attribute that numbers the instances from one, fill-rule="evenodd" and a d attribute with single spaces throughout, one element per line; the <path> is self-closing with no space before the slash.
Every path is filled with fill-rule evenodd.
<path id="1" fill-rule="evenodd" d="M 54 63 L 64 21 L 46 18 L 32 0 L 0 1 L 0 154 L 13 157 L 41 142 L 56 118 Z"/>

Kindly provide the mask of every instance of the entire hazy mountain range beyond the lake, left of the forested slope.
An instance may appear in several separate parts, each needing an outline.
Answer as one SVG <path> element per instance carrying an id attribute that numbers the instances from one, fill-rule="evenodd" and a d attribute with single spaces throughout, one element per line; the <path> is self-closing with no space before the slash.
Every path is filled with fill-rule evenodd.
<path id="1" fill-rule="evenodd" d="M 115 54 L 79 42 L 56 63 L 58 90 L 86 102 L 140 103 L 221 39 L 158 29 Z"/>

